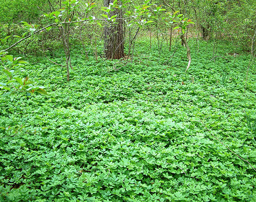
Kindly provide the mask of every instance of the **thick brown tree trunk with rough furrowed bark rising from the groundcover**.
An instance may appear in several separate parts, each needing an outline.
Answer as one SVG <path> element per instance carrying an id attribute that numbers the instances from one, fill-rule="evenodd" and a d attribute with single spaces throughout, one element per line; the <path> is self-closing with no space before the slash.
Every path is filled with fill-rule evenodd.
<path id="1" fill-rule="evenodd" d="M 104 0 L 104 6 L 108 7 L 113 0 Z M 111 11 L 109 17 L 117 15 L 122 18 L 122 11 Z M 120 59 L 125 57 L 123 44 L 123 20 L 118 23 L 108 22 L 104 27 L 104 52 L 107 59 Z"/>

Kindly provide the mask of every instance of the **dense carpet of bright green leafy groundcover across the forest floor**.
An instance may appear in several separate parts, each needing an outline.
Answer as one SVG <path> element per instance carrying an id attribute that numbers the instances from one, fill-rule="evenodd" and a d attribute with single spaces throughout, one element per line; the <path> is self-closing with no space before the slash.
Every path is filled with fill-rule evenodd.
<path id="1" fill-rule="evenodd" d="M 1 201 L 256 201 L 256 172 L 211 135 L 256 167 L 248 53 L 234 63 L 221 44 L 214 61 L 211 43 L 196 54 L 191 41 L 185 73 L 184 48 L 162 65 L 172 52 L 146 41 L 119 71 L 73 49 L 69 83 L 63 68 L 30 58 L 26 72 L 50 97 L 0 98 Z"/>

